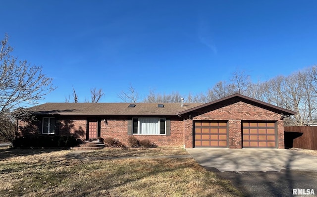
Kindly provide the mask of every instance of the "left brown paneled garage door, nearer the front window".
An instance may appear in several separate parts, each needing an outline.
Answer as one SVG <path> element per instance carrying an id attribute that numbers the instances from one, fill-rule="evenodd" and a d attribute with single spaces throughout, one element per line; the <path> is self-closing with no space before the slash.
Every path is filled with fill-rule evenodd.
<path id="1" fill-rule="evenodd" d="M 195 147 L 228 147 L 227 122 L 195 122 Z"/>

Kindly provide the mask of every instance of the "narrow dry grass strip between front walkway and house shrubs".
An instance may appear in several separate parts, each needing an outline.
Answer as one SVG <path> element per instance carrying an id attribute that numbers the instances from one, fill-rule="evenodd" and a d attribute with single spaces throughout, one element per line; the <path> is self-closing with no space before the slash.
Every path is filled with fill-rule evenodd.
<path id="1" fill-rule="evenodd" d="M 181 147 L 159 148 L 104 148 L 81 153 L 82 156 L 125 157 L 125 156 L 163 156 L 189 154 Z"/>

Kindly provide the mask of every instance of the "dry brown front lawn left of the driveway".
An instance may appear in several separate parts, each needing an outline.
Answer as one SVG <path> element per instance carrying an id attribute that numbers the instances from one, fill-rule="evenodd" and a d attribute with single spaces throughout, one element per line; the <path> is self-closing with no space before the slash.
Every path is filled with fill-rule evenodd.
<path id="1" fill-rule="evenodd" d="M 165 151 L 157 150 L 159 155 Z M 0 196 L 241 196 L 229 181 L 206 171 L 193 159 L 67 159 L 71 151 L 1 148 Z M 127 150 L 104 151 L 122 155 Z"/>

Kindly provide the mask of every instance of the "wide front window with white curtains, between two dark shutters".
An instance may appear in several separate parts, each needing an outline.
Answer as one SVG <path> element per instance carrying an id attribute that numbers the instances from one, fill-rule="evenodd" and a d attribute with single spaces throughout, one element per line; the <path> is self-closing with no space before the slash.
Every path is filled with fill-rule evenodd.
<path id="1" fill-rule="evenodd" d="M 133 118 L 133 134 L 166 134 L 165 118 Z"/>

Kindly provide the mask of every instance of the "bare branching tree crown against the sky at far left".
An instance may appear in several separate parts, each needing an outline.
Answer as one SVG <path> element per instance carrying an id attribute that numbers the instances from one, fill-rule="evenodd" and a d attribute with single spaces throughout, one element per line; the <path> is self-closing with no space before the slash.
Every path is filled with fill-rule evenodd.
<path id="1" fill-rule="evenodd" d="M 21 104 L 38 104 L 38 100 L 55 90 L 52 78 L 42 73 L 41 66 L 10 56 L 13 48 L 8 35 L 0 41 L 0 113 L 14 110 Z"/>

